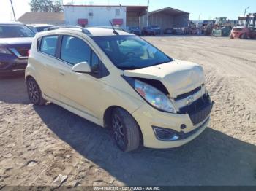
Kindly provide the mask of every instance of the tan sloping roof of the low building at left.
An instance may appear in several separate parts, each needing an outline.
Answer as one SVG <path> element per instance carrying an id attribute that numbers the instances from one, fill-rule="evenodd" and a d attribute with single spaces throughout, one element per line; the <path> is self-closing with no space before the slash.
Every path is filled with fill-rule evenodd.
<path id="1" fill-rule="evenodd" d="M 25 24 L 46 23 L 62 24 L 65 23 L 64 12 L 25 12 L 18 21 Z"/>

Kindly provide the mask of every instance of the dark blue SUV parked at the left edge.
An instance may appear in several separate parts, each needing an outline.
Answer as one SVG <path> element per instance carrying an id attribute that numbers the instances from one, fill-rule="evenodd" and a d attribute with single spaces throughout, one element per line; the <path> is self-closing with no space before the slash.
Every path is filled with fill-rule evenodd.
<path id="1" fill-rule="evenodd" d="M 0 76 L 25 71 L 33 38 L 22 23 L 0 23 Z"/>

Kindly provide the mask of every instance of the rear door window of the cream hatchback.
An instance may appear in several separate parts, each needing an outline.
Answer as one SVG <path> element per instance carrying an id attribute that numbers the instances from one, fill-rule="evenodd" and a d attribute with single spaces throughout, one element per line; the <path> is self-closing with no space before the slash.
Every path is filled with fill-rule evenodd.
<path id="1" fill-rule="evenodd" d="M 41 39 L 41 45 L 39 50 L 48 55 L 55 56 L 57 42 L 58 42 L 58 36 L 44 36 Z"/>

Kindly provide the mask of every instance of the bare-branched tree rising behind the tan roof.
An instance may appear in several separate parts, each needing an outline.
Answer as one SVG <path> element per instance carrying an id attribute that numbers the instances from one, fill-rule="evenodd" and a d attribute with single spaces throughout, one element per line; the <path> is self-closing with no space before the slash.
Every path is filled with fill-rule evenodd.
<path id="1" fill-rule="evenodd" d="M 57 0 L 31 0 L 31 12 L 62 12 L 63 7 Z"/>

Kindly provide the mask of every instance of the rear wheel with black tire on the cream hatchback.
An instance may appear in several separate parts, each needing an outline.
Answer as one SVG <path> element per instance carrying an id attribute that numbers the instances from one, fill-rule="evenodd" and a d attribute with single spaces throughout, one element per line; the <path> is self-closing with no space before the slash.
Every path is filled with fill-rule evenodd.
<path id="1" fill-rule="evenodd" d="M 32 102 L 32 104 L 37 106 L 45 105 L 46 101 L 44 98 L 42 98 L 42 92 L 34 78 L 30 77 L 26 80 L 26 87 L 29 95 L 29 100 Z"/>

